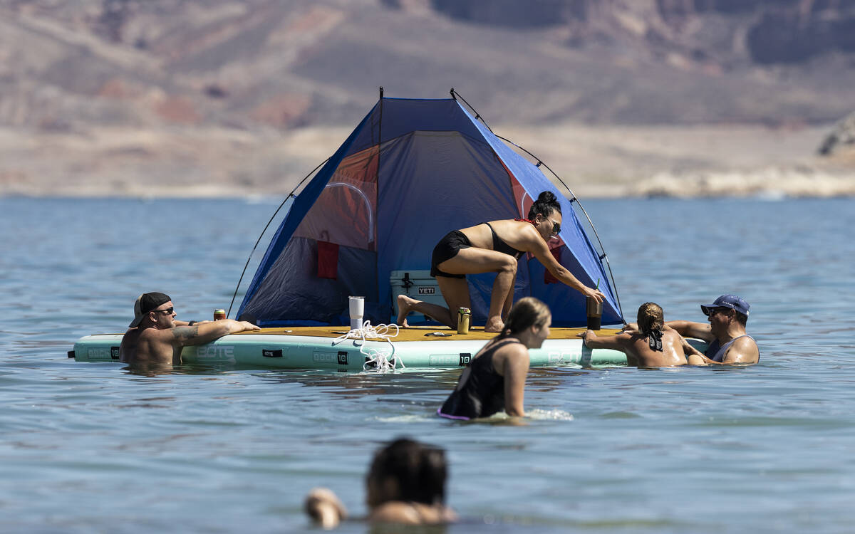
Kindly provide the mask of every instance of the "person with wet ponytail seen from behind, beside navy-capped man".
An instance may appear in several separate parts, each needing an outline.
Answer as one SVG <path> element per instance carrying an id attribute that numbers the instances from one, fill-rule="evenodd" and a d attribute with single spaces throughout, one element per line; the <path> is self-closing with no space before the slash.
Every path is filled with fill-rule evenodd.
<path id="1" fill-rule="evenodd" d="M 665 327 L 662 308 L 655 302 L 645 302 L 639 307 L 637 331 L 598 337 L 588 330 L 579 337 L 591 349 L 621 350 L 630 366 L 671 367 L 687 363 L 683 338 L 674 329 Z"/>

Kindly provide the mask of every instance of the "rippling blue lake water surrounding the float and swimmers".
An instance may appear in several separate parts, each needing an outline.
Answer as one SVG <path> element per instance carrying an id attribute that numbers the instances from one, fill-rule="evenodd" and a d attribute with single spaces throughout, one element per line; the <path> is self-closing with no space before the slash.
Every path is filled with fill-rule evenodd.
<path id="1" fill-rule="evenodd" d="M 146 290 L 180 319 L 227 308 L 275 207 L 0 199 L 0 531 L 304 531 L 314 485 L 365 513 L 370 455 L 399 435 L 447 450 L 466 518 L 450 532 L 852 531 L 855 200 L 585 202 L 624 314 L 704 320 L 700 302 L 737 293 L 762 358 L 536 370 L 528 425 L 435 417 L 457 371 L 143 377 L 67 358 L 123 332 Z"/>

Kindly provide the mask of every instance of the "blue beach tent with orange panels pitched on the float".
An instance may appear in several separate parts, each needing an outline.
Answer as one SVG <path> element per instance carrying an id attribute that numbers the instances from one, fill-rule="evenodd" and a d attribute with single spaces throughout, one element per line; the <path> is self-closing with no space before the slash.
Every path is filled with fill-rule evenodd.
<path id="1" fill-rule="evenodd" d="M 552 253 L 606 295 L 604 325 L 622 322 L 603 263 L 572 202 L 452 97 L 384 98 L 305 185 L 268 245 L 238 317 L 258 326 L 347 325 L 348 296 L 365 297 L 372 324 L 392 318 L 392 271 L 428 270 L 445 233 L 486 220 L 524 218 L 540 191 L 561 203 Z M 456 97 L 457 96 L 457 97 Z M 575 200 L 575 199 L 574 199 Z M 469 276 L 474 324 L 483 325 L 494 274 Z M 585 299 L 523 255 L 515 299 L 536 296 L 553 326 L 584 326 Z"/>

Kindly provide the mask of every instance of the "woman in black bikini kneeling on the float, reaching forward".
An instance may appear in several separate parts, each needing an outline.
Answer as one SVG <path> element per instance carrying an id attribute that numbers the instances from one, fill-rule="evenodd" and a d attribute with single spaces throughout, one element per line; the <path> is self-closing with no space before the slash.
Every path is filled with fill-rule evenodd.
<path id="1" fill-rule="evenodd" d="M 561 232 L 561 222 L 557 198 L 543 191 L 528 210 L 528 219 L 492 220 L 449 232 L 433 249 L 430 271 L 448 307 L 398 295 L 398 325 L 408 326 L 407 314 L 419 312 L 457 328 L 457 310 L 471 308 L 466 275 L 498 273 L 484 332 L 499 332 L 513 303 L 517 261 L 527 252 L 559 281 L 603 302 L 602 292 L 582 284 L 551 255 L 547 243 Z"/>

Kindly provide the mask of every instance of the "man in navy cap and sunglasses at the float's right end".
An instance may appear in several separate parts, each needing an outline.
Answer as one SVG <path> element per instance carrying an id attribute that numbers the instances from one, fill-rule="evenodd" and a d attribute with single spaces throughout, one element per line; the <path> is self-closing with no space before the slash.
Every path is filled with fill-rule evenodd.
<path id="1" fill-rule="evenodd" d="M 705 354 L 685 344 L 688 362 L 692 365 L 704 363 L 757 363 L 760 349 L 751 336 L 746 334 L 748 308 L 745 299 L 735 295 L 722 295 L 712 304 L 701 304 L 707 316 L 706 323 L 687 320 L 671 320 L 665 326 L 673 328 L 683 337 L 703 339 L 710 346 Z M 691 350 L 690 350 L 691 349 Z"/>

